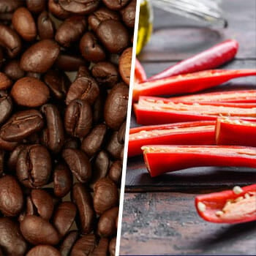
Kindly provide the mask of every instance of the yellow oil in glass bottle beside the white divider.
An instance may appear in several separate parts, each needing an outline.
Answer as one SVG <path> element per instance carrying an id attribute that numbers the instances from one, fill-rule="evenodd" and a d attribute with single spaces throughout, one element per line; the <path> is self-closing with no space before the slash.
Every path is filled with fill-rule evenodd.
<path id="1" fill-rule="evenodd" d="M 151 9 L 151 4 L 148 0 L 141 0 L 136 54 L 140 53 L 150 39 L 152 28 L 153 10 Z"/>

